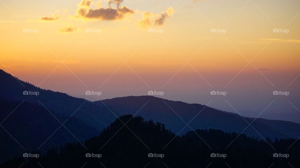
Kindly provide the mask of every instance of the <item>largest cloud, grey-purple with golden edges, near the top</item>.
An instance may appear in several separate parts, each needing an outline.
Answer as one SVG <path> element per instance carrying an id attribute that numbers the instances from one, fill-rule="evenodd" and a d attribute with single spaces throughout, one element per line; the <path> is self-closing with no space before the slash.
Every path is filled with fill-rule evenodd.
<path id="1" fill-rule="evenodd" d="M 83 7 L 82 4 L 86 4 L 87 0 L 82 0 L 79 3 L 79 7 Z M 114 3 L 118 4 L 123 2 L 122 0 L 114 0 Z M 108 2 L 113 3 L 113 2 Z M 77 10 L 77 16 L 89 19 L 99 19 L 99 20 L 122 20 L 127 14 L 133 14 L 134 10 L 130 9 L 129 7 L 123 6 L 114 9 L 112 7 L 108 8 L 99 8 L 99 9 L 90 9 L 88 4 L 84 5 L 84 8 L 79 8 Z M 91 3 L 89 3 L 91 5 Z"/>

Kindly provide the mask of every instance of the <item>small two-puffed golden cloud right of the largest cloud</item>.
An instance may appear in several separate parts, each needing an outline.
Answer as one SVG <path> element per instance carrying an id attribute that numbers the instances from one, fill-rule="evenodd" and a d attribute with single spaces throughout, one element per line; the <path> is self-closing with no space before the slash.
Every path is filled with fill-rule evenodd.
<path id="1" fill-rule="evenodd" d="M 171 17 L 174 13 L 174 9 L 169 7 L 166 11 L 163 11 L 160 15 L 150 12 L 143 12 L 142 16 L 143 19 L 139 21 L 140 26 L 147 27 L 158 25 L 163 25 L 169 17 Z"/>

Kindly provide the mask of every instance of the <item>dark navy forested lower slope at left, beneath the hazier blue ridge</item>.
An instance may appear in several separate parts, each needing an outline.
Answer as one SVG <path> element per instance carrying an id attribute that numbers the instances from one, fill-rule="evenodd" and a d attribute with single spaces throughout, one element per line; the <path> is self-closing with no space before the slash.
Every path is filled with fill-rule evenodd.
<path id="1" fill-rule="evenodd" d="M 100 133 L 77 118 L 48 111 L 39 104 L 0 99 L 0 107 L 0 161 Z"/>

